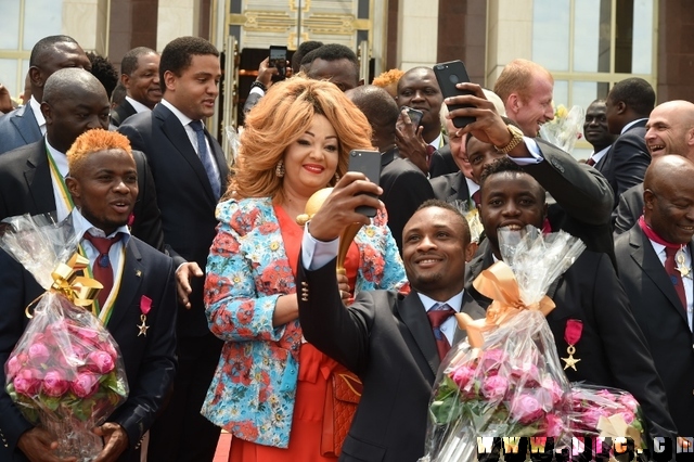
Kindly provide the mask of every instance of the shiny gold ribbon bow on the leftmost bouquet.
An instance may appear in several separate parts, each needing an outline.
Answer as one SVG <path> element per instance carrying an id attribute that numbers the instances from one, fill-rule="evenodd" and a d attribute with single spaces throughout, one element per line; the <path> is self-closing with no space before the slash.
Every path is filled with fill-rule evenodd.
<path id="1" fill-rule="evenodd" d="M 88 266 L 89 259 L 77 253 L 73 255 L 67 264 L 59 264 L 53 272 L 51 272 L 53 284 L 51 285 L 50 291 L 62 294 L 75 306 L 85 308 L 91 306 L 91 311 L 97 316 L 94 312 L 94 300 L 99 296 L 99 291 L 104 286 L 95 279 L 76 274 L 77 271 L 81 271 Z M 27 318 L 33 318 L 33 315 L 29 312 L 29 308 L 36 300 L 31 301 L 24 310 Z"/>

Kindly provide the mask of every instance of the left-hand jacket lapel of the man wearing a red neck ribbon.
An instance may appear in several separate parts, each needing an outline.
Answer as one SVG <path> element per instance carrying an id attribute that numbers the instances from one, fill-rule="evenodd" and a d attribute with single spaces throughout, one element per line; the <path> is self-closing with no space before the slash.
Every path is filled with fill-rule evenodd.
<path id="1" fill-rule="evenodd" d="M 631 258 L 643 270 L 645 277 L 650 278 L 660 292 L 663 292 L 670 301 L 670 307 L 680 313 L 680 317 L 689 329 L 686 312 L 682 309 L 682 303 L 672 286 L 670 277 L 665 271 L 651 241 L 648 241 L 640 228 L 633 227 L 629 231 L 629 245 L 631 246 Z"/>

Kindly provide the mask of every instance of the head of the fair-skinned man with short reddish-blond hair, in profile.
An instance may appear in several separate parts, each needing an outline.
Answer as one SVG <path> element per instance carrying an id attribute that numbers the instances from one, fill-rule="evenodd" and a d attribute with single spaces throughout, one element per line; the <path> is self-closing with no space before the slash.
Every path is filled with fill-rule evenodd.
<path id="1" fill-rule="evenodd" d="M 520 59 L 506 64 L 494 84 L 494 93 L 501 98 L 506 116 L 531 138 L 538 136 L 540 125 L 554 118 L 553 90 L 554 78 L 548 69 Z"/>

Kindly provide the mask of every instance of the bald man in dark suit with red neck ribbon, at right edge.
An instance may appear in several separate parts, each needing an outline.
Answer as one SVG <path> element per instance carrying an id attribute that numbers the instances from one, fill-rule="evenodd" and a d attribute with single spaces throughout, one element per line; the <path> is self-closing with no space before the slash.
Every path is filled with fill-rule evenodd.
<path id="1" fill-rule="evenodd" d="M 692 235 L 694 164 L 654 159 L 643 182 L 645 209 L 615 242 L 619 280 L 663 378 L 681 436 L 694 435 Z"/>

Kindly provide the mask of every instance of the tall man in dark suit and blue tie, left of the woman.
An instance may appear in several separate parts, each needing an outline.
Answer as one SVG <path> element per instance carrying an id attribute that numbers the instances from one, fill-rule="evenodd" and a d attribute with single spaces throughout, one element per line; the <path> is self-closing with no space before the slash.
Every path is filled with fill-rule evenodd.
<path id="1" fill-rule="evenodd" d="M 207 326 L 201 269 L 215 238 L 215 207 L 229 175 L 219 143 L 201 121 L 215 112 L 220 78 L 215 47 L 196 37 L 178 38 L 162 52 L 162 102 L 118 127 L 147 157 L 164 241 L 178 254 L 177 280 L 184 287 L 179 290 L 179 370 L 171 400 L 150 432 L 151 461 L 211 461 L 219 438 L 219 427 L 200 409 L 222 346 Z"/>

